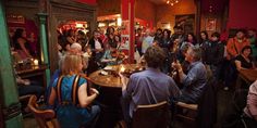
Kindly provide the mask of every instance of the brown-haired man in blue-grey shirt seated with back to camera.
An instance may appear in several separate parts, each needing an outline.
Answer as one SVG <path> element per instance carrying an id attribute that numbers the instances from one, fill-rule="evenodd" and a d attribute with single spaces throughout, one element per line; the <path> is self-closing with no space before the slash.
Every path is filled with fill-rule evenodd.
<path id="1" fill-rule="evenodd" d="M 170 97 L 180 94 L 174 80 L 160 72 L 160 66 L 166 57 L 163 50 L 159 47 L 149 47 L 144 57 L 146 71 L 131 75 L 130 79 L 121 75 L 123 112 L 128 124 L 137 105 L 169 101 Z"/>

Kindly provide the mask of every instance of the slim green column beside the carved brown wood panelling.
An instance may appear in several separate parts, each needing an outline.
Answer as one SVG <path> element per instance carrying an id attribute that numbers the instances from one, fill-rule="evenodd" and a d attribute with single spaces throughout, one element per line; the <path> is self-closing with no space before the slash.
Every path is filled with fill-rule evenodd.
<path id="1" fill-rule="evenodd" d="M 40 47 L 41 47 L 41 63 L 48 65 L 46 69 L 46 77 L 47 77 L 47 86 L 50 82 L 50 69 L 49 69 L 49 54 L 48 54 L 48 42 L 47 42 L 47 33 L 46 33 L 46 22 L 47 22 L 47 14 L 46 13 L 38 13 L 37 14 L 40 22 Z"/>

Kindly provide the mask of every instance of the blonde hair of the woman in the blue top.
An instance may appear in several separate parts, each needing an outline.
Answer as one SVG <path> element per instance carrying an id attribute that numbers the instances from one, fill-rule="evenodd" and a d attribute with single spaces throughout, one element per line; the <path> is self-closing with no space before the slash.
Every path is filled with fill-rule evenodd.
<path id="1" fill-rule="evenodd" d="M 75 54 L 66 54 L 63 61 L 63 75 L 78 74 L 81 72 L 79 64 L 82 64 L 82 56 Z"/>

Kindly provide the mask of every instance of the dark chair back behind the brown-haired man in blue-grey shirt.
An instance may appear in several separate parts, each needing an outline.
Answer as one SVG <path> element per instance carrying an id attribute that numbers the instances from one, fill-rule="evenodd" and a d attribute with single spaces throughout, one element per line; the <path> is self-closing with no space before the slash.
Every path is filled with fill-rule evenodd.
<path id="1" fill-rule="evenodd" d="M 167 128 L 170 121 L 170 110 L 167 101 L 138 105 L 133 113 L 132 128 Z"/>

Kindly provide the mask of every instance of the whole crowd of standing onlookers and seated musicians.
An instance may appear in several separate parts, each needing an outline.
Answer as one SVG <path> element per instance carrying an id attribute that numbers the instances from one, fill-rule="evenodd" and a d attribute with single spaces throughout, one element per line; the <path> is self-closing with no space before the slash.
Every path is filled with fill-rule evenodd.
<path id="1" fill-rule="evenodd" d="M 14 49 L 30 56 L 23 31 L 20 33 L 13 37 Z M 106 34 L 94 30 L 91 37 L 73 29 L 58 34 L 59 69 L 47 89 L 48 105 L 56 110 L 62 127 L 94 127 L 100 107 L 93 102 L 99 92 L 89 87 L 81 74 L 89 75 L 107 65 L 124 63 L 126 55 L 122 47 L 125 42 L 113 27 L 108 27 Z M 128 126 L 137 105 L 161 101 L 198 103 L 210 77 L 220 84 L 223 81 L 228 90 L 233 88 L 232 81 L 240 69 L 256 68 L 255 30 L 246 34 L 238 29 L 227 40 L 221 39 L 219 33 L 209 37 L 207 31 L 201 31 L 199 37 L 197 40 L 181 26 L 174 26 L 173 34 L 160 28 L 136 30 L 135 53 L 146 62 L 146 69 L 130 78 L 120 74 L 122 108 Z M 250 112 L 246 108 L 246 114 Z"/>

